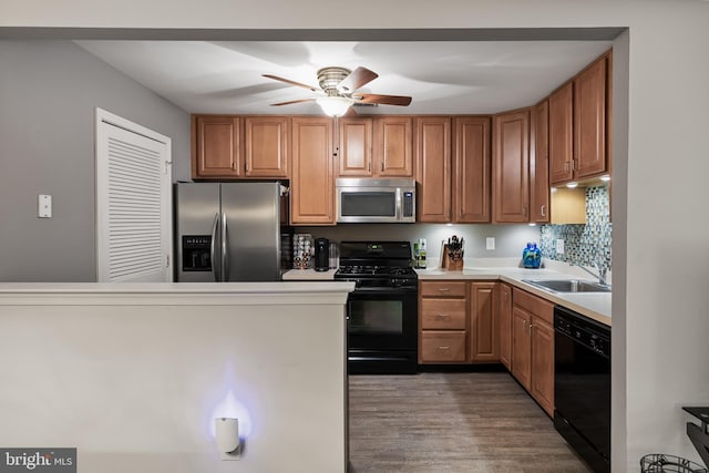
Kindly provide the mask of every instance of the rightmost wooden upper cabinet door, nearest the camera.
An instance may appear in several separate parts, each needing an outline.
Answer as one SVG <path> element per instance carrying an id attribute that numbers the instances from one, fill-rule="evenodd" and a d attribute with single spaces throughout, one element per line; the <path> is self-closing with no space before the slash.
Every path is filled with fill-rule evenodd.
<path id="1" fill-rule="evenodd" d="M 608 61 L 605 54 L 574 79 L 574 178 L 607 172 Z"/>

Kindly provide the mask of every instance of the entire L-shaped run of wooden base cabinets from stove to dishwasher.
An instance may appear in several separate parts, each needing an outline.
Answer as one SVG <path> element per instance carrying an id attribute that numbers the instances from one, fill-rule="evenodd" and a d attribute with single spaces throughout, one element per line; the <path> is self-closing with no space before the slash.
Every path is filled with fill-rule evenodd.
<path id="1" fill-rule="evenodd" d="M 554 415 L 554 304 L 506 282 L 419 281 L 419 363 L 501 362 Z"/>

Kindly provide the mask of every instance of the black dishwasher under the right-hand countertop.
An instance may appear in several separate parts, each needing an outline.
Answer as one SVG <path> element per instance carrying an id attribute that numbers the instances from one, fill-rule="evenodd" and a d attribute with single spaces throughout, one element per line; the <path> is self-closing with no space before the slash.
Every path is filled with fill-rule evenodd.
<path id="1" fill-rule="evenodd" d="M 610 328 L 554 308 L 554 426 L 595 472 L 610 471 Z"/>

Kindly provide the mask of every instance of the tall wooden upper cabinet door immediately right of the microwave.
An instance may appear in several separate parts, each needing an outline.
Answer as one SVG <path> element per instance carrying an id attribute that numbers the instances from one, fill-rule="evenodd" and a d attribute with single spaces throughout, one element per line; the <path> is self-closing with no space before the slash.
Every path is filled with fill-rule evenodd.
<path id="1" fill-rule="evenodd" d="M 451 119 L 415 121 L 417 222 L 451 222 Z"/>

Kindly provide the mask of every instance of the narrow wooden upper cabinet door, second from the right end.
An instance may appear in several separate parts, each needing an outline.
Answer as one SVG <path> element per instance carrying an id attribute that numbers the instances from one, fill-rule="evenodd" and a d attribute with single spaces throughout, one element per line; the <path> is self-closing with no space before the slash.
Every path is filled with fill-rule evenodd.
<path id="1" fill-rule="evenodd" d="M 574 83 L 566 82 L 549 97 L 549 183 L 573 179 Z"/>

